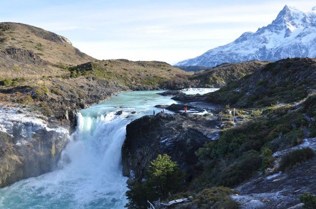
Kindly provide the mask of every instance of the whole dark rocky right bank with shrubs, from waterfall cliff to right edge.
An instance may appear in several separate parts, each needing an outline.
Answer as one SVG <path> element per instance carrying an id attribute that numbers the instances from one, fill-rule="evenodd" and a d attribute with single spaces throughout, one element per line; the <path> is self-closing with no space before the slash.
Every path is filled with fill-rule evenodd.
<path id="1" fill-rule="evenodd" d="M 180 104 L 156 107 L 174 112 L 181 112 L 184 106 L 196 111 L 209 108 L 214 115 L 221 116 L 223 122 L 217 121 L 216 116 L 206 116 L 208 114 L 205 117 L 176 113 L 144 116 L 127 126 L 122 162 L 130 188 L 145 185 L 141 183 L 146 182 L 144 173 L 159 154 L 171 156 L 188 176 L 182 191 L 186 193 L 171 194 L 168 199 L 154 202 L 155 205 L 166 205 L 171 198 L 187 201 L 178 203 L 175 208 L 197 208 L 199 201 L 209 201 L 206 205 L 212 205 L 212 200 L 207 198 L 214 198 L 214 194 L 206 194 L 212 189 L 218 190 L 219 186 L 236 191 L 229 194 L 231 200 L 227 208 L 301 208 L 300 195 L 314 194 L 315 95 L 292 104 L 235 108 L 234 121 L 229 106 L 214 111 L 213 104 L 191 102 L 191 98 L 186 101 L 187 96 L 183 97 L 178 91 L 161 95 L 179 96 L 183 100 Z M 207 137 L 209 133 L 218 134 Z M 307 153 L 311 153 L 311 157 L 305 158 Z M 281 165 L 287 166 L 286 169 Z M 220 195 L 222 199 L 227 198 Z M 189 196 L 193 196 L 193 200 L 189 200 Z"/>

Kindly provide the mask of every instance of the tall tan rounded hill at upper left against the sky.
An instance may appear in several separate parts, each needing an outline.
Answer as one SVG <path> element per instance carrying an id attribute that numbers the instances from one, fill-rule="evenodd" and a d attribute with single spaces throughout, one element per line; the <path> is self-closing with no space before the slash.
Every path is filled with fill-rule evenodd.
<path id="1" fill-rule="evenodd" d="M 22 23 L 0 23 L 0 77 L 59 75 L 61 67 L 94 60 L 55 33 Z"/>

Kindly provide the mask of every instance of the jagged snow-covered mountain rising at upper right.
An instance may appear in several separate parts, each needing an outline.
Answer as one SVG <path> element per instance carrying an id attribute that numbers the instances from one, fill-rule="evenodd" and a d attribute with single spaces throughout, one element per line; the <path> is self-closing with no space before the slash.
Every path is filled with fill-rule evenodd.
<path id="1" fill-rule="evenodd" d="M 258 59 L 276 61 L 287 57 L 316 57 L 316 7 L 303 12 L 285 5 L 271 24 L 246 32 L 235 41 L 210 49 L 175 66 L 214 67 Z"/>

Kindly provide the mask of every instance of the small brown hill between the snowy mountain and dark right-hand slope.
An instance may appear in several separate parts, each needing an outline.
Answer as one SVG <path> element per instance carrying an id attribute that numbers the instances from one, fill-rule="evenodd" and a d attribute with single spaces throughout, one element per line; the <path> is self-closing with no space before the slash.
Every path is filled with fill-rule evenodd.
<path id="1" fill-rule="evenodd" d="M 260 70 L 268 63 L 264 61 L 249 61 L 235 64 L 224 63 L 212 69 L 196 72 L 190 79 L 198 80 L 200 82 L 199 86 L 202 87 L 220 88 L 233 80 L 238 80 Z"/>

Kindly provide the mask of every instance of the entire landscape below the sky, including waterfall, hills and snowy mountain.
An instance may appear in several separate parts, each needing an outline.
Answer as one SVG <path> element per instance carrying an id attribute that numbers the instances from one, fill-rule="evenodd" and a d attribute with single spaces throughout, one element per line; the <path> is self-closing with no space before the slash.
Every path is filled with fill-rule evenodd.
<path id="1" fill-rule="evenodd" d="M 313 208 L 315 14 L 175 66 L 1 22 L 0 208 Z"/>

